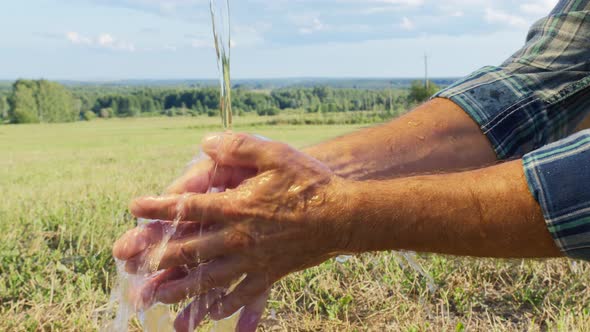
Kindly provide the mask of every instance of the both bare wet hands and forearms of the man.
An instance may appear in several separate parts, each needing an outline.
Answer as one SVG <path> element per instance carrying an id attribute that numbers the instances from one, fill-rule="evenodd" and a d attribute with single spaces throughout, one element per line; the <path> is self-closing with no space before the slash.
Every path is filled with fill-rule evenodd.
<path id="1" fill-rule="evenodd" d="M 340 253 L 560 256 L 521 161 L 494 165 L 485 136 L 447 100 L 432 100 L 389 124 L 305 153 L 244 134 L 209 137 L 203 149 L 222 165 L 214 185 L 227 191 L 202 194 L 213 165 L 206 161 L 171 186 L 175 195 L 131 205 L 138 217 L 172 220 L 178 194 L 191 192 L 182 223 L 205 223 L 203 236 L 190 231 L 194 224 L 182 226 L 188 231 L 171 241 L 160 266 L 195 268 L 159 280 L 146 296 L 176 303 L 247 274 L 230 294 L 214 291 L 193 304 L 213 319 L 247 305 L 242 331 L 256 328 L 274 282 Z M 115 244 L 114 255 L 133 271 L 158 242 L 157 229 L 130 231 Z M 177 319 L 179 330 L 190 325 L 188 309 Z M 194 317 L 193 326 L 203 318 Z"/>

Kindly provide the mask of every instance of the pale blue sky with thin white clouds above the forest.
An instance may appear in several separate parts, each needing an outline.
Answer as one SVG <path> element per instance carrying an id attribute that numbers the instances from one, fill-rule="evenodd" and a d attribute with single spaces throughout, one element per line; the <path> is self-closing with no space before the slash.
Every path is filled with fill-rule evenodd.
<path id="1" fill-rule="evenodd" d="M 234 78 L 467 75 L 557 0 L 230 0 Z M 217 77 L 209 0 L 0 4 L 0 79 Z"/>

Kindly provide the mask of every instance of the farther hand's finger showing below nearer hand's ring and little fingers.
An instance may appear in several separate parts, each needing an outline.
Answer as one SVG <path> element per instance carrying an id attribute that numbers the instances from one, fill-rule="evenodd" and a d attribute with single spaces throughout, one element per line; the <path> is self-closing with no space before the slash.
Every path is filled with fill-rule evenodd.
<path id="1" fill-rule="evenodd" d="M 186 306 L 174 321 L 176 332 L 193 332 L 209 313 L 211 305 L 221 295 L 221 290 L 212 290 L 205 295 L 198 296 L 193 302 Z"/>

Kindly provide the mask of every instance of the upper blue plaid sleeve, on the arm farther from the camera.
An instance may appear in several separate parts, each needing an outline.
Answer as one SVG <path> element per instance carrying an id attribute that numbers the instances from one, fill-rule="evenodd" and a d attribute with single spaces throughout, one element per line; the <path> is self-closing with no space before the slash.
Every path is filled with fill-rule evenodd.
<path id="1" fill-rule="evenodd" d="M 590 0 L 562 0 L 531 28 L 525 46 L 435 97 L 458 104 L 499 159 L 571 134 L 590 111 Z"/>

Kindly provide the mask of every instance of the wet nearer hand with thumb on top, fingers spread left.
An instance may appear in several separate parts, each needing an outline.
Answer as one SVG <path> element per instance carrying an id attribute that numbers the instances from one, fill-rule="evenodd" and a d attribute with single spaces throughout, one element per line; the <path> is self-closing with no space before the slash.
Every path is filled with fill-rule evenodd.
<path id="1" fill-rule="evenodd" d="M 155 299 L 177 303 L 225 287 L 246 275 L 213 304 L 214 319 L 255 302 L 285 275 L 318 265 L 346 251 L 349 227 L 342 216 L 345 181 L 287 145 L 248 135 L 222 135 L 203 149 L 224 167 L 255 169 L 257 176 L 218 194 L 170 195 L 132 203 L 141 218 L 209 225 L 203 236 L 173 239 L 161 269 L 196 266 L 180 279 L 163 282 Z M 197 304 L 198 305 L 198 304 Z"/>

